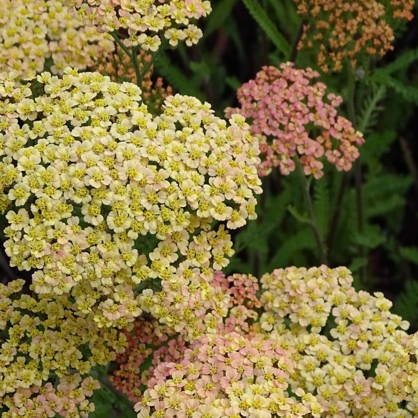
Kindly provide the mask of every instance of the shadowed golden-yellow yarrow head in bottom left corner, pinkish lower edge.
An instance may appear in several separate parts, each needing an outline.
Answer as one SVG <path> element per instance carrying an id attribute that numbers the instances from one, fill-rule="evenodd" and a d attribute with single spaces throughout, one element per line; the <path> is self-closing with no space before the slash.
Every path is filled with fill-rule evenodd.
<path id="1" fill-rule="evenodd" d="M 87 416 L 93 406 L 86 398 L 98 383 L 80 375 L 113 360 L 126 338 L 97 329 L 92 314 L 76 315 L 64 296 L 50 301 L 22 294 L 23 284 L 20 279 L 0 284 L 0 411 L 9 408 L 2 417 L 79 416 L 67 415 L 77 408 Z M 60 382 L 56 389 L 54 375 Z"/>

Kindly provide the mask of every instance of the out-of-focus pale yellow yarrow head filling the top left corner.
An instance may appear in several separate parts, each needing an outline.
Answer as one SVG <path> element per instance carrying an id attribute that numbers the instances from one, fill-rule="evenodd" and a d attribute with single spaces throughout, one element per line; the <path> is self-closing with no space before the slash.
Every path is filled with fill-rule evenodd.
<path id="1" fill-rule="evenodd" d="M 113 49 L 110 35 L 85 28 L 63 1 L 0 1 L 0 71 L 40 72 L 51 60 L 50 70 L 62 74 L 69 65 L 85 69 Z"/>

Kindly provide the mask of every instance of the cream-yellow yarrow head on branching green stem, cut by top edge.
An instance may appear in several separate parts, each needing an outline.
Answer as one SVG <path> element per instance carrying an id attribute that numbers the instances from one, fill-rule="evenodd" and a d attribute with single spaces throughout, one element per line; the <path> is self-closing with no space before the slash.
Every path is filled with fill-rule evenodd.
<path id="1" fill-rule="evenodd" d="M 171 46 L 191 46 L 202 37 L 194 24 L 212 10 L 208 0 L 65 0 L 70 11 L 100 31 L 127 31 L 123 43 L 156 51 L 165 38 Z"/>

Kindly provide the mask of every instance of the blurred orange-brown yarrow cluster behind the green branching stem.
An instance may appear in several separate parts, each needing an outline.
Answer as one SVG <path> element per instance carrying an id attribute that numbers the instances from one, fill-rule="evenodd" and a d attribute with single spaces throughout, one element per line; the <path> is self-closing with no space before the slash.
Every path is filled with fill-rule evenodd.
<path id="1" fill-rule="evenodd" d="M 138 54 L 138 66 L 141 71 L 151 60 L 151 55 L 141 50 Z M 109 75 L 112 81 L 123 83 L 137 83 L 137 76 L 130 58 L 120 48 L 115 52 L 110 52 L 105 56 L 99 56 L 95 70 L 102 75 Z M 142 101 L 147 105 L 147 109 L 152 114 L 160 113 L 164 99 L 172 95 L 170 86 L 163 87 L 163 79 L 158 77 L 155 83 L 151 80 L 153 66 L 144 74 L 141 90 Z"/>

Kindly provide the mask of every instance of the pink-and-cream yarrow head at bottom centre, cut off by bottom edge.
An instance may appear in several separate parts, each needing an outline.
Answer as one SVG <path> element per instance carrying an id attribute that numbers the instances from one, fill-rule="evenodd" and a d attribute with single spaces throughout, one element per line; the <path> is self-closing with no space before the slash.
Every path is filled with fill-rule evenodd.
<path id="1" fill-rule="evenodd" d="M 155 367 L 135 405 L 138 417 L 296 418 L 321 412 L 314 397 L 302 402 L 288 397 L 292 363 L 273 341 L 233 332 L 208 335 L 178 357 Z"/>

